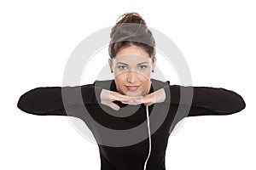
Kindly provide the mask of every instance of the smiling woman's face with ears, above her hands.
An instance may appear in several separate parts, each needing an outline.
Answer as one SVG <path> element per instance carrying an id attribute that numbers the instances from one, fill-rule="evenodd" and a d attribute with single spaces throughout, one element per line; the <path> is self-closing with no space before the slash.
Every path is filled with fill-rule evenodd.
<path id="1" fill-rule="evenodd" d="M 152 62 L 143 48 L 130 46 L 120 49 L 115 58 L 108 60 L 119 94 L 129 96 L 148 94 L 151 87 L 151 71 L 155 62 L 156 58 Z"/>

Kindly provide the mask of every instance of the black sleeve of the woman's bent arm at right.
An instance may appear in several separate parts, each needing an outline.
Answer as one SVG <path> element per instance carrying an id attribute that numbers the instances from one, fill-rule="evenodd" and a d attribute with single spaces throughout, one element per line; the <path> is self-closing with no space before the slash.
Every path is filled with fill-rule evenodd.
<path id="1" fill-rule="evenodd" d="M 241 95 L 224 88 L 183 87 L 174 85 L 170 86 L 170 93 L 172 104 L 191 104 L 187 116 L 230 115 L 246 107 Z M 183 101 L 181 101 L 182 94 L 184 96 Z M 192 95 L 190 103 L 189 95 Z"/>

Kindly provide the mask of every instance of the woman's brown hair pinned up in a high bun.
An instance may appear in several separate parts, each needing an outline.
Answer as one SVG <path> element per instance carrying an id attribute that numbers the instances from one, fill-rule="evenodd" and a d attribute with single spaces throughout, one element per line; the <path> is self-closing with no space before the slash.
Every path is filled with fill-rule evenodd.
<path id="1" fill-rule="evenodd" d="M 155 42 L 145 20 L 137 13 L 125 13 L 119 16 L 113 26 L 108 47 L 108 54 L 113 59 L 121 48 L 135 45 L 143 48 L 154 61 Z"/>

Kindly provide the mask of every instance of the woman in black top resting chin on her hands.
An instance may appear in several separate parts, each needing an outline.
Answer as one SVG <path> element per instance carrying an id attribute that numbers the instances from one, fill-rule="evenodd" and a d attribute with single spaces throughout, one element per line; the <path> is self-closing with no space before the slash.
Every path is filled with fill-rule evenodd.
<path id="1" fill-rule="evenodd" d="M 18 101 L 20 110 L 30 114 L 82 119 L 95 136 L 103 170 L 166 169 L 166 146 L 177 122 L 186 116 L 230 115 L 245 108 L 239 94 L 224 88 L 182 87 L 151 79 L 154 37 L 139 14 L 122 15 L 110 37 L 113 80 L 34 88 Z"/>

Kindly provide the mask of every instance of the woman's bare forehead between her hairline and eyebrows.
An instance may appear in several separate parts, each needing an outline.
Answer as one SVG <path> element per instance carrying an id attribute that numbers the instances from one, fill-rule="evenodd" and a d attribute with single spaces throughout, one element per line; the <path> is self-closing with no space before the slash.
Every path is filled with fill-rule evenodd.
<path id="1" fill-rule="evenodd" d="M 127 64 L 149 62 L 149 54 L 140 47 L 131 46 L 119 50 L 116 57 L 113 59 L 115 62 L 123 62 Z"/>

